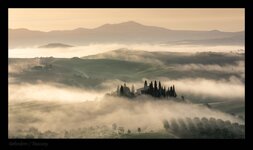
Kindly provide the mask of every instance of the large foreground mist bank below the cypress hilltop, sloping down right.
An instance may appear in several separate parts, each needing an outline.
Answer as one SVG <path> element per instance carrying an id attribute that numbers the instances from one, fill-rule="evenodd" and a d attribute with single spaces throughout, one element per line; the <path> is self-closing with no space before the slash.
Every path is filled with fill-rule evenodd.
<path id="1" fill-rule="evenodd" d="M 18 86 L 23 86 L 23 89 Z M 12 93 L 9 94 L 10 137 L 21 136 L 19 131 L 30 128 L 40 132 L 56 132 L 57 137 L 63 137 L 66 131 L 91 130 L 90 127 L 101 126 L 111 129 L 113 124 L 132 132 L 137 132 L 137 128 L 141 128 L 142 132 L 156 132 L 164 129 L 165 119 L 170 121 L 187 117 L 213 117 L 244 124 L 239 118 L 202 105 L 157 100 L 148 96 L 127 99 L 43 84 L 11 85 L 9 91 Z M 100 134 L 103 133 L 85 135 L 89 138 L 102 136 Z"/>

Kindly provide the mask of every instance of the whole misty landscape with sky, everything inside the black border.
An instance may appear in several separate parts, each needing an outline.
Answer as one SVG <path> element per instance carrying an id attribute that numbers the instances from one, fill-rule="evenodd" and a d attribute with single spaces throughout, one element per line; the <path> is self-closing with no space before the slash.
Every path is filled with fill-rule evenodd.
<path id="1" fill-rule="evenodd" d="M 10 139 L 245 139 L 245 9 L 8 9 Z"/>

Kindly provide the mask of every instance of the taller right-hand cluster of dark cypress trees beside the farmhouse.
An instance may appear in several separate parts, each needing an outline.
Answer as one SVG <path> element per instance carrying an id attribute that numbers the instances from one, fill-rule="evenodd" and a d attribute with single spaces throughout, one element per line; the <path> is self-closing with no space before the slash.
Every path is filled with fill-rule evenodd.
<path id="1" fill-rule="evenodd" d="M 147 84 L 147 81 L 144 82 L 144 91 L 143 94 L 148 94 L 153 97 L 177 97 L 175 86 L 170 86 L 166 90 L 165 86 L 162 87 L 161 82 L 159 81 L 158 86 L 157 82 L 155 81 L 153 84 L 153 81 Z"/>

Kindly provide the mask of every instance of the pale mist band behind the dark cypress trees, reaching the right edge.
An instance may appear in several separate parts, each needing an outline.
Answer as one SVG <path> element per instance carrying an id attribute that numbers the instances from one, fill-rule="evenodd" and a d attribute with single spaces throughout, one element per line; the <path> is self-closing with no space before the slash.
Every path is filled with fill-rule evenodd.
<path id="1" fill-rule="evenodd" d="M 143 78 L 141 82 L 129 82 L 129 87 L 134 85 L 136 88 L 142 88 L 144 81 L 150 82 L 150 79 Z M 231 76 L 229 79 L 212 80 L 205 78 L 182 78 L 182 79 L 170 79 L 166 77 L 157 77 L 152 79 L 161 81 L 162 85 L 168 88 L 175 85 L 178 95 L 194 95 L 201 98 L 210 98 L 217 100 L 222 98 L 223 100 L 239 100 L 244 101 L 245 97 L 245 84 L 240 78 Z M 108 80 L 101 83 L 101 87 L 108 89 L 108 92 L 115 91 L 118 85 L 122 85 L 124 81 L 121 80 Z"/>

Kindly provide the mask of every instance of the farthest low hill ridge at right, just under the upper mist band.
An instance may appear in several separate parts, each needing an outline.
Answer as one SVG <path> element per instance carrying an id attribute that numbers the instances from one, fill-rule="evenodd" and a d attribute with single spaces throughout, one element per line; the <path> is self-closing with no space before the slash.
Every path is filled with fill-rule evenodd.
<path id="1" fill-rule="evenodd" d="M 244 54 L 222 52 L 148 52 L 141 50 L 117 49 L 96 55 L 81 57 L 83 59 L 115 59 L 148 64 L 235 64 L 244 61 Z"/>

